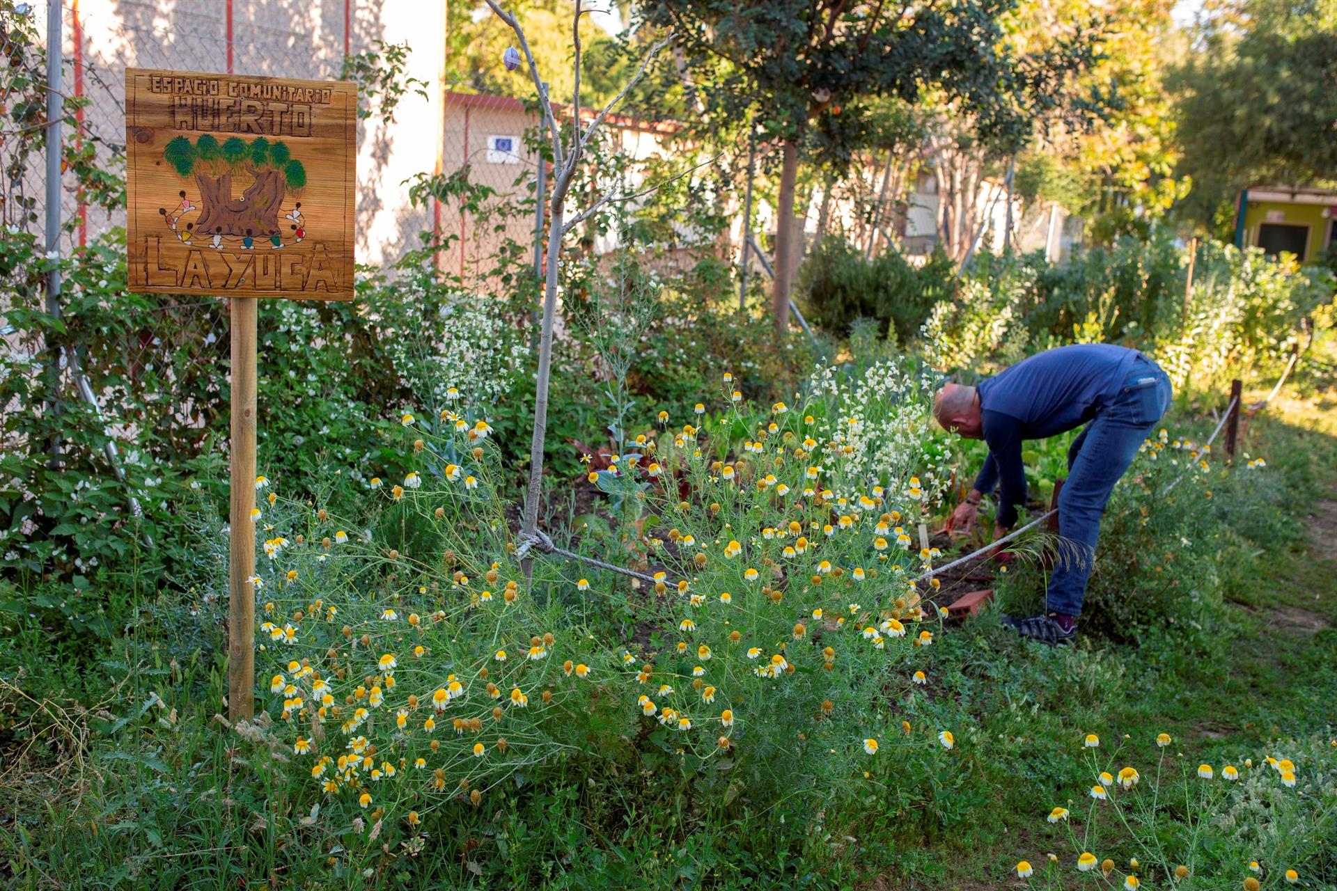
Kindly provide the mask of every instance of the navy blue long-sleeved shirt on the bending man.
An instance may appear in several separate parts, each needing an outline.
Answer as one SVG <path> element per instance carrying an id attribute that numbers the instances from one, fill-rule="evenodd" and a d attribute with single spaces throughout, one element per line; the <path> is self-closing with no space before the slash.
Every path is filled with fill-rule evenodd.
<path id="1" fill-rule="evenodd" d="M 979 383 L 989 457 L 975 488 L 989 493 L 1001 481 L 999 525 L 1015 524 L 1025 504 L 1021 441 L 1052 437 L 1094 418 L 1138 355 L 1112 343 L 1075 343 L 1038 353 Z"/>

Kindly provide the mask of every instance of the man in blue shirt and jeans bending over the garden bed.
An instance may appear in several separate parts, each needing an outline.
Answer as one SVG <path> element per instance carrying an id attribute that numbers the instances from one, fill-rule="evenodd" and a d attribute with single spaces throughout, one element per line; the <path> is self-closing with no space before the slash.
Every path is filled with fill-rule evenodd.
<path id="1" fill-rule="evenodd" d="M 997 486 L 993 536 L 1004 534 L 1025 505 L 1021 441 L 1087 425 L 1068 449 L 1068 480 L 1059 493 L 1063 541 L 1046 612 L 1003 620 L 1023 637 L 1058 644 L 1076 636 L 1104 505 L 1169 405 L 1170 378 L 1161 366 L 1136 350 L 1108 343 L 1062 346 L 979 386 L 948 383 L 939 390 L 933 417 L 943 429 L 989 446 L 975 488 L 952 514 L 951 529 L 969 530 L 980 498 Z"/>

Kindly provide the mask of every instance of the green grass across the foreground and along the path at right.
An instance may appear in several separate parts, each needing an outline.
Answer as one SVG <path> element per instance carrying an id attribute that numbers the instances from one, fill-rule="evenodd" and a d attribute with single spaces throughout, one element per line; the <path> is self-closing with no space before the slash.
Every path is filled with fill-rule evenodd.
<path id="1" fill-rule="evenodd" d="M 1070 800 L 1074 824 L 1086 816 L 1091 775 L 1074 755 L 1086 732 L 1100 735 L 1102 752 L 1127 735 L 1127 757 L 1148 767 L 1159 732 L 1175 739 L 1167 752 L 1218 768 L 1261 761 L 1278 744 L 1313 759 L 1329 751 L 1337 413 L 1320 398 L 1284 401 L 1249 425 L 1242 448 L 1265 456 L 1280 485 L 1229 518 L 1227 548 L 1177 557 L 1215 561 L 1213 628 L 1152 628 L 1123 643 L 1088 635 L 1051 651 L 984 614 L 935 641 L 932 683 L 906 705 L 906 720 L 953 728 L 956 768 L 897 777 L 882 792 L 832 789 L 816 810 L 604 752 L 519 775 L 483 808 L 452 801 L 429 816 L 421 850 L 392 851 L 362 875 L 322 842 L 328 834 L 303 826 L 310 814 L 294 804 L 282 752 L 215 719 L 222 656 L 207 636 L 175 635 L 185 618 L 174 596 L 136 600 L 130 633 L 95 657 L 62 644 L 33 660 L 43 635 L 28 628 L 0 647 L 0 878 L 16 888 L 1015 884 L 1017 859 L 1072 858 L 1044 818 Z M 1028 602 L 1040 584 L 1039 570 L 1019 568 L 1000 601 Z M 1182 822 L 1163 831 L 1183 838 Z M 1332 823 L 1297 832 L 1312 887 L 1337 880 Z M 1131 844 L 1123 830 L 1106 842 L 1123 858 Z"/>

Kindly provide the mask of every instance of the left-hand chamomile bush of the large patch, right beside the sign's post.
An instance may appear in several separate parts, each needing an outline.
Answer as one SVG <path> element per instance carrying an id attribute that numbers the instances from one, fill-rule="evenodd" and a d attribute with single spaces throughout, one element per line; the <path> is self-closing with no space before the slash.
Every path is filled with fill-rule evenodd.
<path id="1" fill-rule="evenodd" d="M 412 854 L 451 808 L 572 752 L 608 752 L 602 685 L 620 653 L 511 558 L 491 426 L 405 414 L 402 478 L 372 478 L 362 521 L 279 497 L 257 517 L 257 727 L 338 836 L 349 870 Z M 305 806 L 302 806 L 305 807 Z M 352 828 L 350 828 L 352 827 Z"/>

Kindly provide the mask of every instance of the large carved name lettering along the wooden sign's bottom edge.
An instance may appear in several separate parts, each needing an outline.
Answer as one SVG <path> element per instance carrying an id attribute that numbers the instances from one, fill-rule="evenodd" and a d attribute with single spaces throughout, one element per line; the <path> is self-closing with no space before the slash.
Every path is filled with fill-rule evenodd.
<path id="1" fill-rule="evenodd" d="M 162 238 L 143 239 L 143 264 L 135 263 L 131 289 L 178 289 L 201 294 L 245 289 L 273 291 L 275 295 L 306 291 L 336 294 L 338 273 L 329 251 L 321 243 L 310 250 L 213 250 L 191 247 L 185 256 L 162 250 Z M 139 281 L 134 281 L 139 279 Z"/>

